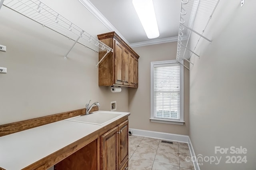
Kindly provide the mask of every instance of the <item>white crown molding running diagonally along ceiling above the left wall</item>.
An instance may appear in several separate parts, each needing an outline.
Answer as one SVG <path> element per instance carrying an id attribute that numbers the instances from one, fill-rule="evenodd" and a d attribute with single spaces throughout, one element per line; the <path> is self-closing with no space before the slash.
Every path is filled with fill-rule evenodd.
<path id="1" fill-rule="evenodd" d="M 130 43 L 118 32 L 118 30 L 105 18 L 105 16 L 90 2 L 90 0 L 78 0 L 85 8 L 87 8 L 106 28 L 110 31 L 116 32 L 126 44 L 130 46 Z"/>

